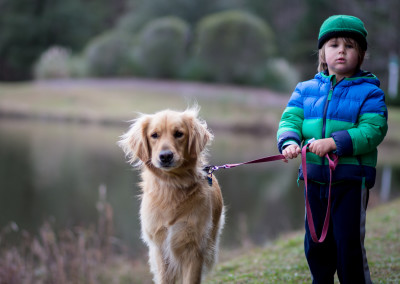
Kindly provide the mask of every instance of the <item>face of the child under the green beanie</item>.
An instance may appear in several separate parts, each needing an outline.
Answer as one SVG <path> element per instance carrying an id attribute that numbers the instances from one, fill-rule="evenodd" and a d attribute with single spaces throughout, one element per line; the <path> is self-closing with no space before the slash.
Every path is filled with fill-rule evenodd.
<path id="1" fill-rule="evenodd" d="M 354 75 L 359 66 L 359 54 L 352 39 L 332 38 L 323 48 L 329 75 L 336 75 L 337 80 Z"/>

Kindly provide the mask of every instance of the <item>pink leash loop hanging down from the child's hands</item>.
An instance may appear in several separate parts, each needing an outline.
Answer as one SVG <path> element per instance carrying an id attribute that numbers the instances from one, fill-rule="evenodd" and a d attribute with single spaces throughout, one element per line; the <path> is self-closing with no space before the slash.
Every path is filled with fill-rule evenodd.
<path id="1" fill-rule="evenodd" d="M 311 213 L 311 207 L 308 202 L 308 194 L 307 194 L 307 152 L 309 151 L 308 147 L 311 143 L 305 145 L 301 150 L 301 165 L 303 168 L 303 177 L 304 183 L 306 185 L 306 210 L 307 210 L 307 223 L 308 228 L 310 230 L 311 238 L 315 243 L 322 243 L 329 229 L 329 219 L 331 214 L 331 187 L 332 187 L 332 172 L 335 170 L 338 162 L 339 157 L 333 153 L 328 153 L 325 155 L 325 158 L 329 161 L 329 196 L 328 196 L 328 207 L 326 208 L 326 215 L 324 220 L 324 226 L 322 227 L 321 237 L 318 239 L 317 234 L 315 232 L 314 220 Z"/>

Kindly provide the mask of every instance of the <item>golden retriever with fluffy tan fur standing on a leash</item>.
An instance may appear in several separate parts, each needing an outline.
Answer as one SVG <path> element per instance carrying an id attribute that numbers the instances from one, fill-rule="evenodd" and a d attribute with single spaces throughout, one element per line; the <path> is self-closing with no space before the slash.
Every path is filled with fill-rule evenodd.
<path id="1" fill-rule="evenodd" d="M 142 239 L 155 283 L 200 283 L 217 257 L 224 205 L 203 170 L 213 135 L 198 111 L 143 114 L 118 142 L 141 167 Z"/>

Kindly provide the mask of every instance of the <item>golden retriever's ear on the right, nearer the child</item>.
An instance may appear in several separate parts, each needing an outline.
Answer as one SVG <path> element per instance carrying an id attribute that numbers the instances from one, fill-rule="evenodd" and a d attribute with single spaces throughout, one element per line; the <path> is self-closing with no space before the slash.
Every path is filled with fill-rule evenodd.
<path id="1" fill-rule="evenodd" d="M 193 158 L 197 157 L 214 138 L 208 130 L 207 123 L 197 117 L 198 109 L 184 112 L 189 129 L 188 151 Z"/>

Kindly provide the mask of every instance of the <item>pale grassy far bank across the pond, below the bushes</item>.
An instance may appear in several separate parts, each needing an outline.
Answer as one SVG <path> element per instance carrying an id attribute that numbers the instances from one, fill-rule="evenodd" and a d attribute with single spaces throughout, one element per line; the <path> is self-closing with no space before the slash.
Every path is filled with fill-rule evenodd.
<path id="1" fill-rule="evenodd" d="M 274 136 L 290 94 L 263 88 L 149 79 L 0 83 L 0 119 L 126 125 L 137 112 L 185 109 L 197 102 L 211 129 Z M 389 109 L 380 160 L 398 163 L 400 109 Z"/>

